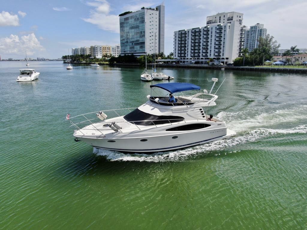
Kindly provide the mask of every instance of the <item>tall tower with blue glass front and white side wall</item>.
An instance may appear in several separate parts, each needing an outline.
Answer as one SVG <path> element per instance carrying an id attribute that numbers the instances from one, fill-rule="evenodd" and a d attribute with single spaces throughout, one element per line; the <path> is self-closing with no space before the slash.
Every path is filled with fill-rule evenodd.
<path id="1" fill-rule="evenodd" d="M 120 54 L 141 56 L 164 52 L 164 11 L 161 4 L 155 9 L 142 7 L 136 12 L 120 14 Z"/>

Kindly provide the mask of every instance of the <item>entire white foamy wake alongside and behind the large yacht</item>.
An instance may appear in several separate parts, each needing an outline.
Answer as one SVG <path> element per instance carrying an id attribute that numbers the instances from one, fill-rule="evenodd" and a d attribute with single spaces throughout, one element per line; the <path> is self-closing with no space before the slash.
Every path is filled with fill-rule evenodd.
<path id="1" fill-rule="evenodd" d="M 303 113 L 307 106 L 302 105 L 294 109 L 283 109 L 272 111 L 271 113 L 259 113 L 252 117 L 250 111 L 241 111 L 237 113 L 221 112 L 218 114 L 219 119 L 226 121 L 228 128 L 237 132 L 235 137 L 217 140 L 192 148 L 174 150 L 168 152 L 156 152 L 153 154 L 130 153 L 125 154 L 118 151 L 94 148 L 93 153 L 106 157 L 110 161 L 147 161 L 147 162 L 163 162 L 163 161 L 184 161 L 196 158 L 205 154 L 221 154 L 215 151 L 223 151 L 227 154 L 235 151 L 232 147 L 237 145 L 255 142 L 267 136 L 278 134 L 307 133 L 307 125 L 299 125 L 290 128 L 274 128 L 280 127 L 280 124 L 290 124 L 292 121 L 306 120 L 307 115 Z M 242 120 L 236 120 L 243 117 Z"/>

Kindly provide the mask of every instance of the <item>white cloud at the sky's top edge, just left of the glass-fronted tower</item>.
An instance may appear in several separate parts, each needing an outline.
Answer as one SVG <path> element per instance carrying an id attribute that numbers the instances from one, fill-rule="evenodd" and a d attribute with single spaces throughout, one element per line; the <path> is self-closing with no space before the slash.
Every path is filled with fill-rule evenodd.
<path id="1" fill-rule="evenodd" d="M 90 16 L 82 18 L 82 20 L 97 25 L 100 29 L 119 33 L 119 17 L 118 15 L 109 14 L 110 4 L 107 1 L 87 2 L 87 5 L 94 6 L 95 10 L 91 10 Z"/>

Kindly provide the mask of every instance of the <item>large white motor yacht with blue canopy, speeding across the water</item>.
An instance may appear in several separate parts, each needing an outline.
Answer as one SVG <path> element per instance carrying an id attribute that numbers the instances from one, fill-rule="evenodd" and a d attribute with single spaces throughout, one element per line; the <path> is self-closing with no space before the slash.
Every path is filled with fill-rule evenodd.
<path id="1" fill-rule="evenodd" d="M 215 84 L 218 79 L 212 80 Z M 95 148 L 156 152 L 200 145 L 236 134 L 227 129 L 224 121 L 217 118 L 207 121 L 209 115 L 204 108 L 216 105 L 218 98 L 211 94 L 213 86 L 208 93 L 190 83 L 151 85 L 149 101 L 138 108 L 105 110 L 75 117 L 68 114 L 66 120 L 76 128 L 75 141 L 84 141 Z M 155 96 L 159 95 L 156 91 L 163 94 Z M 188 94 L 188 91 L 193 92 Z M 182 94 L 176 96 L 179 92 Z M 169 94 L 175 95 L 176 102 L 169 102 Z"/>

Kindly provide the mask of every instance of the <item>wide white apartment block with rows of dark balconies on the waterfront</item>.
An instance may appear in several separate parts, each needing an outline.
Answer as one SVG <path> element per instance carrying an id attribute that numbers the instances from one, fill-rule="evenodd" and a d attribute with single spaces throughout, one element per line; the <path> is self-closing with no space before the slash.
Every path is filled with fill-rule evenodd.
<path id="1" fill-rule="evenodd" d="M 182 62 L 231 63 L 244 48 L 243 13 L 218 13 L 207 17 L 204 27 L 174 32 L 174 58 Z"/>

